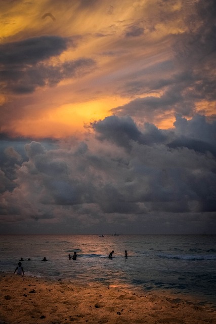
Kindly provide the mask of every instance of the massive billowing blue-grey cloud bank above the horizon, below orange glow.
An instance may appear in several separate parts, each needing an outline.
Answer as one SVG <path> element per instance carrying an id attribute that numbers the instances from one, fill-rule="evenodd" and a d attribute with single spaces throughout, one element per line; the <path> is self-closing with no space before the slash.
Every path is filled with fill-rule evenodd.
<path id="1" fill-rule="evenodd" d="M 152 215 L 152 224 L 157 220 L 161 230 L 165 220 L 172 229 L 173 222 L 177 229 L 178 223 L 187 224 L 187 232 L 195 226 L 196 233 L 208 219 L 212 222 L 216 160 L 200 138 L 204 134 L 206 147 L 215 150 L 214 124 L 199 115 L 191 120 L 178 116 L 174 130 L 161 131 L 151 124 L 138 127 L 130 117 L 111 116 L 92 127 L 97 139 L 49 149 L 35 141 L 26 144 L 25 161 L 15 147 L 8 148 L 8 158 L 20 164 L 10 191 L 11 180 L 0 173 L 2 219 L 58 219 L 60 227 L 67 219 L 80 230 L 89 222 L 101 229 L 121 224 L 129 231 L 135 222 L 139 232 Z M 192 139 L 196 145 L 189 146 Z M 192 214 L 199 215 L 198 223 L 197 217 L 186 221 Z M 179 221 L 174 215 L 181 215 Z"/>

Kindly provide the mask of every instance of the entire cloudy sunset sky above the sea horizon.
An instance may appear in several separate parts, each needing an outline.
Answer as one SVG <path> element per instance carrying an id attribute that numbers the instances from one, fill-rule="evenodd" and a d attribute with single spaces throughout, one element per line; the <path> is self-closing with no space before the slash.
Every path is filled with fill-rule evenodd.
<path id="1" fill-rule="evenodd" d="M 0 234 L 216 234 L 214 0 L 0 4 Z"/>

